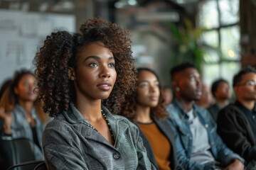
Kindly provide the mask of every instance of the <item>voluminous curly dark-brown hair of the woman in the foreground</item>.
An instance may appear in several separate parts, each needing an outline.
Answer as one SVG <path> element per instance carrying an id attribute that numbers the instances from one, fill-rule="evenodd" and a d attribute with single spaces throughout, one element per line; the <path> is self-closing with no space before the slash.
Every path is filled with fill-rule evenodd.
<path id="1" fill-rule="evenodd" d="M 80 50 L 93 42 L 102 42 L 111 50 L 117 72 L 112 93 L 102 100 L 102 104 L 110 112 L 119 114 L 124 98 L 132 94 L 136 86 L 136 68 L 129 32 L 102 18 L 89 19 L 80 27 L 80 33 L 51 33 L 33 60 L 39 98 L 43 100 L 43 110 L 50 116 L 68 111 L 70 102 L 75 101 L 75 88 L 68 77 L 68 67 L 75 68 Z"/>

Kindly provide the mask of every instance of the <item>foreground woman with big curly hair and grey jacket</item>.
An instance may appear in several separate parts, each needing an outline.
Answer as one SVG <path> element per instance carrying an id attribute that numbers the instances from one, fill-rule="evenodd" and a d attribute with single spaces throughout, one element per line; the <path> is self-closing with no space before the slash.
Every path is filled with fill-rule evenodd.
<path id="1" fill-rule="evenodd" d="M 43 109 L 48 169 L 154 169 L 137 126 L 117 115 L 136 69 L 129 33 L 93 18 L 80 33 L 49 35 L 34 64 Z"/>

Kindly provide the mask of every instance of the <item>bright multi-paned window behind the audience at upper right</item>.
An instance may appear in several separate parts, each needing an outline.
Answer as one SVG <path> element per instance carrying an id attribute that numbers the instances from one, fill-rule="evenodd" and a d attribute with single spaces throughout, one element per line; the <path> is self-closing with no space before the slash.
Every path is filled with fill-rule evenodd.
<path id="1" fill-rule="evenodd" d="M 198 25 L 206 28 L 201 40 L 213 47 L 206 49 L 203 65 L 203 81 L 209 86 L 218 78 L 231 85 L 233 75 L 240 69 L 238 10 L 239 0 L 206 0 L 200 4 Z"/>

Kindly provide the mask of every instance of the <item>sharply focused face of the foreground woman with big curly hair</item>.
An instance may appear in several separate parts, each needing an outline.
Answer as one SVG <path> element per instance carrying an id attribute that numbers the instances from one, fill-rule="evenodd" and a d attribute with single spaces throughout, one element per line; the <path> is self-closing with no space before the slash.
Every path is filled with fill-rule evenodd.
<path id="1" fill-rule="evenodd" d="M 101 42 L 85 46 L 78 54 L 74 74 L 77 100 L 110 96 L 117 78 L 114 56 Z"/>

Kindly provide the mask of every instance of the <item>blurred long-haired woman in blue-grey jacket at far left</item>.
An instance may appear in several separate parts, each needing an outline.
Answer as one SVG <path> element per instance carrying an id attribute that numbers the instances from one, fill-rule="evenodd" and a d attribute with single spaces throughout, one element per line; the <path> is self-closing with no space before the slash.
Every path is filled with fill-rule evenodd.
<path id="1" fill-rule="evenodd" d="M 26 69 L 14 74 L 11 86 L 4 91 L 0 101 L 0 127 L 1 136 L 25 137 L 33 141 L 35 157 L 41 160 L 43 125 L 39 115 L 46 114 L 37 101 L 35 81 L 34 74 Z"/>

